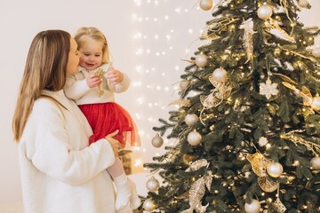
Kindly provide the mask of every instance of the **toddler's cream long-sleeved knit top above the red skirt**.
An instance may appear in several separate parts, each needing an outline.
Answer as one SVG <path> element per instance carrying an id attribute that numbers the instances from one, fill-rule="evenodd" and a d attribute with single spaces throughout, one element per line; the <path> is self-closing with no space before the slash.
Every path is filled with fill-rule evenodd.
<path id="1" fill-rule="evenodd" d="M 108 64 L 105 64 L 99 67 L 104 70 L 105 75 L 108 75 L 108 66 Z M 124 92 L 129 88 L 130 78 L 128 75 L 124 74 L 122 82 L 116 83 L 116 85 L 110 83 L 106 77 L 102 77 L 100 90 L 103 91 L 103 94 L 99 96 L 98 87 L 90 88 L 86 83 L 86 78 L 89 75 L 92 75 L 95 70 L 88 71 L 84 67 L 79 67 L 78 73 L 67 78 L 67 82 L 63 90 L 69 99 L 74 99 L 76 101 L 77 105 L 115 102 L 114 92 Z"/>

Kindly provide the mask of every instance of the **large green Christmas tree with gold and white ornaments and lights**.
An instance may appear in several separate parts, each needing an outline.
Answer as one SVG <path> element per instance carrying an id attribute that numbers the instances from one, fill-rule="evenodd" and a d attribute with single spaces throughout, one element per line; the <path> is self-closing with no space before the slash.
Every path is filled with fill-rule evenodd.
<path id="1" fill-rule="evenodd" d="M 150 212 L 320 212 L 320 49 L 307 0 L 201 0 L 204 45 L 154 127 Z"/>

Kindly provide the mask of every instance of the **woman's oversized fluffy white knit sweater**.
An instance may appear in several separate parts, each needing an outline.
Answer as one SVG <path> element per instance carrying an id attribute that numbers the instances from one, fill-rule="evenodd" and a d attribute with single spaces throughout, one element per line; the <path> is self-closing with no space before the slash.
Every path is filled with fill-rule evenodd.
<path id="1" fill-rule="evenodd" d="M 20 139 L 20 174 L 25 213 L 114 213 L 106 170 L 115 162 L 106 139 L 88 146 L 90 125 L 63 91 L 44 91 Z"/>

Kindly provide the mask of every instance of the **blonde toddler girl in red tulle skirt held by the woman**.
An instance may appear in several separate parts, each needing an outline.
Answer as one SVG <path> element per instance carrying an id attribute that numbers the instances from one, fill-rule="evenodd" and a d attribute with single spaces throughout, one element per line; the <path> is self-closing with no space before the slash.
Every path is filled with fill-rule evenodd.
<path id="1" fill-rule="evenodd" d="M 123 146 L 140 146 L 140 138 L 132 117 L 115 103 L 114 92 L 126 91 L 130 84 L 127 75 L 112 67 L 108 59 L 106 37 L 97 28 L 80 28 L 76 43 L 81 53 L 79 72 L 68 77 L 64 87 L 66 96 L 74 99 L 92 126 L 89 144 L 119 130 L 116 139 Z M 108 168 L 116 185 L 116 209 L 124 209 L 129 201 L 131 208 L 140 206 L 135 186 L 129 182 L 119 160 Z"/>

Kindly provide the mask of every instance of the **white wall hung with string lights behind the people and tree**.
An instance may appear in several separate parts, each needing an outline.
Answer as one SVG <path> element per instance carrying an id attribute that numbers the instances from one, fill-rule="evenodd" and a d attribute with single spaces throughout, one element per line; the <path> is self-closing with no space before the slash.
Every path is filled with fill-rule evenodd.
<path id="1" fill-rule="evenodd" d="M 210 12 L 194 7 L 197 0 L 0 0 L 0 204 L 20 201 L 17 145 L 12 141 L 12 114 L 29 44 L 38 31 L 82 26 L 100 28 L 107 36 L 115 67 L 132 78 L 132 87 L 117 96 L 141 131 L 143 162 L 156 150 L 150 145 L 158 118 L 178 99 L 180 75 L 196 47 Z M 320 26 L 320 3 L 301 13 L 307 26 Z M 187 10 L 187 11 L 186 11 Z M 156 19 L 156 20 L 155 20 Z M 187 55 L 186 50 L 190 53 Z M 174 94 L 174 95 L 172 95 Z"/>

